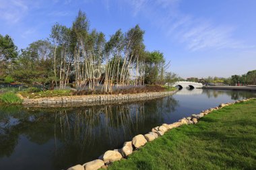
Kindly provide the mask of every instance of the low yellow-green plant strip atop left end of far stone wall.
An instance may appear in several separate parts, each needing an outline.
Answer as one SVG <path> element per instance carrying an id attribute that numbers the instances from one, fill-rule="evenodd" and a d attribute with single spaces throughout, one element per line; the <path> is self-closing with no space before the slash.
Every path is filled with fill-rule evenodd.
<path id="1" fill-rule="evenodd" d="M 37 99 L 41 97 L 61 97 L 61 96 L 70 96 L 70 90 L 46 90 L 32 93 L 30 90 L 28 91 L 20 91 L 19 92 L 23 97 L 28 97 L 30 99 Z"/>

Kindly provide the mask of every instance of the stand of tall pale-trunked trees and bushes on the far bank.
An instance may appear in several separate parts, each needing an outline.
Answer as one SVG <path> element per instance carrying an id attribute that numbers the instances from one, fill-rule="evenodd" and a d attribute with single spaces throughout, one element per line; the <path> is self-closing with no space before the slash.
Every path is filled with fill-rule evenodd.
<path id="1" fill-rule="evenodd" d="M 137 25 L 117 30 L 107 41 L 102 32 L 90 30 L 86 13 L 79 11 L 70 28 L 57 23 L 48 39 L 19 52 L 8 35 L 0 35 L 0 78 L 51 88 L 73 83 L 94 90 L 103 84 L 108 92 L 113 85 L 162 85 L 177 79 L 166 73 L 169 62 L 162 52 L 146 50 L 144 34 Z"/>

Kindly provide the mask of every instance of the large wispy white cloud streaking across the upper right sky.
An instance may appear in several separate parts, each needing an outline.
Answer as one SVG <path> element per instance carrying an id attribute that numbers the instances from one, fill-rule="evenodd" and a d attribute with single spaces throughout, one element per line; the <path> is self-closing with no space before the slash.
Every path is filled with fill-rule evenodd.
<path id="1" fill-rule="evenodd" d="M 185 44 L 188 50 L 251 48 L 241 40 L 233 38 L 234 26 L 215 24 L 207 18 L 196 18 L 179 9 L 181 0 L 130 0 L 133 15 L 144 15 L 150 22 Z"/>

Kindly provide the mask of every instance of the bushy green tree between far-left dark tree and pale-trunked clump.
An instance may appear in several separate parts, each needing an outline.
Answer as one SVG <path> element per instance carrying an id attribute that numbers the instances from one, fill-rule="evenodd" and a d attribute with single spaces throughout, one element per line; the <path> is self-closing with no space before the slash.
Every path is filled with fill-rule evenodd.
<path id="1" fill-rule="evenodd" d="M 18 56 L 11 75 L 16 81 L 46 85 L 53 83 L 53 46 L 48 40 L 33 42 Z"/>

